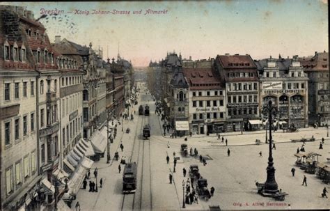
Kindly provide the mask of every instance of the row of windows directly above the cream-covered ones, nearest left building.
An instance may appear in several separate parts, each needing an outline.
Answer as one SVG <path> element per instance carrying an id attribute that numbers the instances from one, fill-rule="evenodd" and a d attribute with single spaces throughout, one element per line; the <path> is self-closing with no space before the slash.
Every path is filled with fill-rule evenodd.
<path id="1" fill-rule="evenodd" d="M 30 119 L 29 119 L 29 117 L 30 117 Z M 13 143 L 12 139 L 14 139 L 15 141 L 19 141 L 19 139 L 21 138 L 22 135 L 27 136 L 29 133 L 29 129 L 30 129 L 30 132 L 34 132 L 35 131 L 35 118 L 36 118 L 35 113 L 31 113 L 30 115 L 27 115 L 27 114 L 24 115 L 23 118 L 20 118 L 20 117 L 15 118 L 15 120 L 13 120 L 13 123 L 11 120 L 6 121 L 4 123 L 5 146 L 10 146 Z M 23 130 L 21 130 L 21 125 L 23 125 L 22 126 Z M 12 131 L 14 133 L 12 133 Z"/>

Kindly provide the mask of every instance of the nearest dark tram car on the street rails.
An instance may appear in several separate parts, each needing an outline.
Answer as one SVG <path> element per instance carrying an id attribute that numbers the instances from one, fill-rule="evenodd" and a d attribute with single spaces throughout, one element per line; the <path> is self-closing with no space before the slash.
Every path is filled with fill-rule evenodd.
<path id="1" fill-rule="evenodd" d="M 137 165 L 128 163 L 123 172 L 123 194 L 134 193 L 136 191 Z"/>

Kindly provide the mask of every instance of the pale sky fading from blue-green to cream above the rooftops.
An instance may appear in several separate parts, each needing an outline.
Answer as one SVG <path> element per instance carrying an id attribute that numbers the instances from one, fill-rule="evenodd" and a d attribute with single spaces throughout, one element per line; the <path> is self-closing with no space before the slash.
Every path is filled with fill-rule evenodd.
<path id="1" fill-rule="evenodd" d="M 308 56 L 329 45 L 327 0 L 1 4 L 26 6 L 36 18 L 58 10 L 40 19 L 51 41 L 60 35 L 81 45 L 92 42 L 93 48 L 103 48 L 104 59 L 116 58 L 119 47 L 120 56 L 135 66 L 158 61 L 173 50 L 183 58 L 230 53 L 258 59 Z M 92 14 L 99 10 L 108 14 Z M 147 10 L 166 13 L 146 14 Z"/>

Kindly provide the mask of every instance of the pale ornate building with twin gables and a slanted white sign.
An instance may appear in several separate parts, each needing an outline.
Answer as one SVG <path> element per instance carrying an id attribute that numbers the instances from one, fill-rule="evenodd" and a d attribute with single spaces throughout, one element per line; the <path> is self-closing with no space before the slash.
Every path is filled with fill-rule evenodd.
<path id="1" fill-rule="evenodd" d="M 271 57 L 256 61 L 256 65 L 260 77 L 260 110 L 272 100 L 278 108 L 275 126 L 308 127 L 308 78 L 297 56 Z"/>

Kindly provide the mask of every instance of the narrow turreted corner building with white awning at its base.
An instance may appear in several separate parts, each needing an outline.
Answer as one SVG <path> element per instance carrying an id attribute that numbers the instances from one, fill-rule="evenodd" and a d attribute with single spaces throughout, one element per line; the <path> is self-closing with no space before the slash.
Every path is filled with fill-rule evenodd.
<path id="1" fill-rule="evenodd" d="M 182 67 L 175 70 L 169 86 L 171 95 L 168 97 L 168 103 L 171 109 L 168 122 L 175 125 L 178 135 L 187 135 L 189 134 L 189 84 L 184 78 Z"/>

